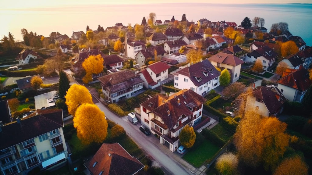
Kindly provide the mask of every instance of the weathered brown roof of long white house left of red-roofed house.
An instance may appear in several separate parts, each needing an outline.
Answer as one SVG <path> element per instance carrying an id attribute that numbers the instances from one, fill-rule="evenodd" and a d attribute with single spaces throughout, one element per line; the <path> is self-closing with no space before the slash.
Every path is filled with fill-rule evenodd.
<path id="1" fill-rule="evenodd" d="M 108 87 L 111 93 L 143 83 L 140 75 L 135 75 L 131 70 L 120 70 L 119 72 L 108 74 L 98 78 L 101 85 Z"/>

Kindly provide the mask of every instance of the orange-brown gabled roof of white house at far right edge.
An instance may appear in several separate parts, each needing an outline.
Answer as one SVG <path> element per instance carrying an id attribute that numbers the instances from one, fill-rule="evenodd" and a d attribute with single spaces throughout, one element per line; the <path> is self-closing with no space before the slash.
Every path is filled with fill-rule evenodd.
<path id="1" fill-rule="evenodd" d="M 282 78 L 277 80 L 276 83 L 301 91 L 307 90 L 312 84 L 309 79 L 309 72 L 303 66 L 300 66 L 298 70 L 286 69 Z"/>

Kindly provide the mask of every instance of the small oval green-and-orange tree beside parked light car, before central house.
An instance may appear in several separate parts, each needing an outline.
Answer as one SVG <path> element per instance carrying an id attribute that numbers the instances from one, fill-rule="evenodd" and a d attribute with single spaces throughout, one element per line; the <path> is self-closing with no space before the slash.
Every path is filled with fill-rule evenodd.
<path id="1" fill-rule="evenodd" d="M 188 124 L 181 130 L 179 135 L 180 143 L 184 148 L 191 148 L 195 143 L 196 135 L 193 127 L 190 127 Z"/>

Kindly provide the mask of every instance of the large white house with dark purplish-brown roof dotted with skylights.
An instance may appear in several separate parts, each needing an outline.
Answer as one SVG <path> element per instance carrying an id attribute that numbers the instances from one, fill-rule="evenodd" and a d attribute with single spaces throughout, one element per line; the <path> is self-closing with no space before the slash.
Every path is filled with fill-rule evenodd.
<path id="1" fill-rule="evenodd" d="M 173 75 L 175 88 L 191 89 L 201 96 L 220 85 L 220 72 L 208 60 L 188 64 Z"/>

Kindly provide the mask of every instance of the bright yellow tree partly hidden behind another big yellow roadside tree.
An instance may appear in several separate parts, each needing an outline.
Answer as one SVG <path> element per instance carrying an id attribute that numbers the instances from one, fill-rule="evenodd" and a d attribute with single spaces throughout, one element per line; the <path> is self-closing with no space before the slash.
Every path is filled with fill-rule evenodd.
<path id="1" fill-rule="evenodd" d="M 65 95 L 65 99 L 65 103 L 68 106 L 68 113 L 73 116 L 80 105 L 84 103 L 93 104 L 89 90 L 85 86 L 77 84 L 71 85 Z"/>

